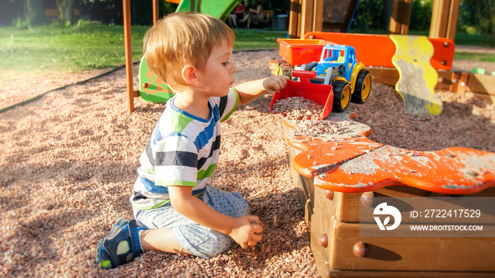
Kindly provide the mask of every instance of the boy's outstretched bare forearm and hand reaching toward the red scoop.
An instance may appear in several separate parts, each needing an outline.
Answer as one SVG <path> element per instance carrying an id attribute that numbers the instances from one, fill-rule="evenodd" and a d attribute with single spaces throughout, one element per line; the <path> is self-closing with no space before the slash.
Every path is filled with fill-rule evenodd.
<path id="1" fill-rule="evenodd" d="M 238 105 L 252 102 L 265 92 L 269 92 L 270 94 L 280 92 L 280 90 L 286 87 L 287 80 L 289 80 L 289 77 L 284 75 L 270 75 L 269 78 L 252 80 L 237 85 L 235 90 L 239 95 Z"/>

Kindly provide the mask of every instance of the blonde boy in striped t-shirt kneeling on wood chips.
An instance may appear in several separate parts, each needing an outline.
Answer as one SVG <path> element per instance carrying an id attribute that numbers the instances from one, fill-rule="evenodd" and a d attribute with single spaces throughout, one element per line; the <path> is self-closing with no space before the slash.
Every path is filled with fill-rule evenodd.
<path id="1" fill-rule="evenodd" d="M 136 220 L 119 219 L 100 241 L 97 262 L 117 267 L 147 250 L 212 258 L 235 241 L 262 238 L 262 224 L 239 193 L 208 186 L 220 149 L 220 121 L 287 78 L 270 76 L 231 88 L 235 37 L 221 20 L 173 13 L 144 37 L 148 66 L 175 92 L 141 155 L 131 202 Z M 138 224 L 139 223 L 139 226 Z"/>

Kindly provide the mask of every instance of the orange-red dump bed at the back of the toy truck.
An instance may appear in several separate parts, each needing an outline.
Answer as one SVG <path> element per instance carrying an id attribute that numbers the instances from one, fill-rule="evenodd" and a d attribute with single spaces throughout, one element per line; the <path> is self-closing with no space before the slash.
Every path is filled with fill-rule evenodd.
<path id="1" fill-rule="evenodd" d="M 292 66 L 301 66 L 320 61 L 322 49 L 329 42 L 325 40 L 276 39 L 279 55 Z"/>

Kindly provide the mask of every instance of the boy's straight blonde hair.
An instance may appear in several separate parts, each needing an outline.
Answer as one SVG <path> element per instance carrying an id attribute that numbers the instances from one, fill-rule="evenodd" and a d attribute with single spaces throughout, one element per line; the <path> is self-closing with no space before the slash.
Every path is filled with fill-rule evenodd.
<path id="1" fill-rule="evenodd" d="M 221 20 L 202 13 L 170 13 L 144 35 L 143 52 L 151 71 L 177 92 L 187 87 L 182 68 L 203 69 L 211 50 L 223 42 L 233 46 L 235 35 Z"/>

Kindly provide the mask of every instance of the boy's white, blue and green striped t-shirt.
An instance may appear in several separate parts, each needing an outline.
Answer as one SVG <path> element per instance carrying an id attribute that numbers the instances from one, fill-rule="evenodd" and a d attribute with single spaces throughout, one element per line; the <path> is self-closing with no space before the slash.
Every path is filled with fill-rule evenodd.
<path id="1" fill-rule="evenodd" d="M 141 167 L 131 197 L 136 210 L 151 210 L 169 202 L 168 186 L 192 186 L 204 191 L 220 152 L 220 121 L 238 104 L 231 89 L 225 97 L 210 97 L 208 120 L 175 107 L 169 99 L 140 157 Z"/>

